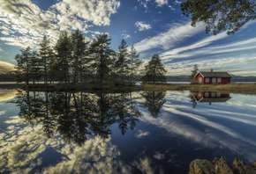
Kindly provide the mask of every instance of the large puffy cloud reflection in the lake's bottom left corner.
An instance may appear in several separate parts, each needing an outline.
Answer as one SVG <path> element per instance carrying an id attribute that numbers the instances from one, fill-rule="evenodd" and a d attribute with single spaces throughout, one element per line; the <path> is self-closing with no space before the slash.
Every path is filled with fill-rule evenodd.
<path id="1" fill-rule="evenodd" d="M 21 124 L 19 117 L 5 123 Z M 13 173 L 132 173 L 118 159 L 120 151 L 109 139 L 91 138 L 83 146 L 65 144 L 59 136 L 48 138 L 41 125 L 11 125 L 0 134 L 0 172 Z M 41 157 L 49 148 L 62 156 L 55 165 L 44 164 Z M 41 168 L 41 170 L 34 170 Z"/>

